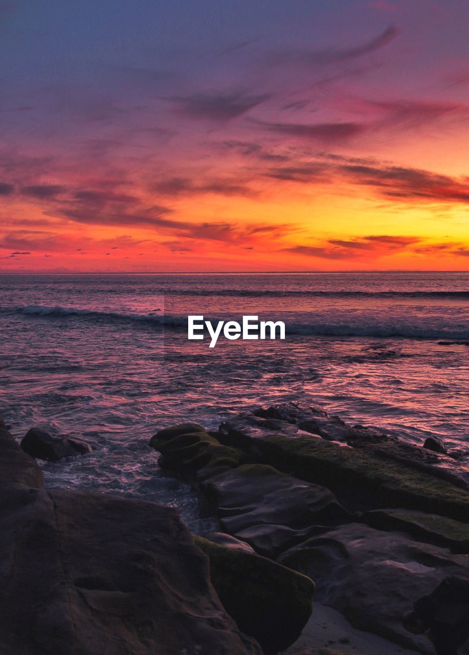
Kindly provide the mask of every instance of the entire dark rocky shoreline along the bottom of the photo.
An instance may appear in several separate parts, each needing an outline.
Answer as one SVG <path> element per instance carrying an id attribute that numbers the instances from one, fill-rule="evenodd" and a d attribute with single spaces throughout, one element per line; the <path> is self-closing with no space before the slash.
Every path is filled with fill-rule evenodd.
<path id="1" fill-rule="evenodd" d="M 45 452 L 39 432 L 23 444 L 32 455 Z M 86 457 L 86 444 L 43 438 L 52 459 Z M 44 489 L 39 466 L 0 426 L 2 652 L 359 653 L 307 637 L 313 594 L 396 652 L 434 652 L 402 616 L 446 576 L 469 577 L 466 453 L 409 445 L 303 403 L 216 431 L 164 428 L 150 446 L 206 500 L 219 533 L 194 537 L 151 502 Z M 362 655 L 375 655 L 369 648 Z"/>

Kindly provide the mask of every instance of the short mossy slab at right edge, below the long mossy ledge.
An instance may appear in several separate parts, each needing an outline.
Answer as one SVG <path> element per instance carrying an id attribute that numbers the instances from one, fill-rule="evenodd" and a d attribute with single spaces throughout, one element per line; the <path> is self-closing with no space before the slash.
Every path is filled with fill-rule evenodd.
<path id="1" fill-rule="evenodd" d="M 469 525 L 445 516 L 415 510 L 373 510 L 366 512 L 362 520 L 378 530 L 397 530 L 453 553 L 469 553 Z"/>

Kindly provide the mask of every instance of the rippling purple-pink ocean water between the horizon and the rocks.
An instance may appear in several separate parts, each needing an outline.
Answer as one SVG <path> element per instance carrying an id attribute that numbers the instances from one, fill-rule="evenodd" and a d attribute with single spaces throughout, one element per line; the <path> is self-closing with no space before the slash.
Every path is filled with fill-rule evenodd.
<path id="1" fill-rule="evenodd" d="M 209 348 L 187 340 L 188 314 L 283 320 L 286 340 Z M 96 447 L 43 464 L 48 485 L 171 504 L 195 530 L 210 517 L 147 446 L 170 424 L 310 400 L 469 448 L 469 347 L 454 343 L 469 341 L 468 272 L 3 275 L 0 340 L 14 436 L 40 426 Z"/>

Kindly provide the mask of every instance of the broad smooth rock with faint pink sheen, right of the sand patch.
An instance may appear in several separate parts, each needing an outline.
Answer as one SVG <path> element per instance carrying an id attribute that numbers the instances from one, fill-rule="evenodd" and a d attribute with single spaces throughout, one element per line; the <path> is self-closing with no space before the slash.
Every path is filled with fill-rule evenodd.
<path id="1" fill-rule="evenodd" d="M 403 628 L 403 614 L 446 576 L 469 571 L 466 555 L 359 523 L 311 538 L 279 561 L 312 577 L 318 603 L 335 608 L 353 626 L 419 652 L 429 652 L 430 645 Z"/>

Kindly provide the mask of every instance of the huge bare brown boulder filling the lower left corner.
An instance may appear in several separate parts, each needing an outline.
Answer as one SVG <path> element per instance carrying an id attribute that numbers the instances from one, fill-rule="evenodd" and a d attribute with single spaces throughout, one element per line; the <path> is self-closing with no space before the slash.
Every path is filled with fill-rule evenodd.
<path id="1" fill-rule="evenodd" d="M 0 430 L 0 652 L 262 655 L 212 584 L 175 510 L 46 491 Z"/>

